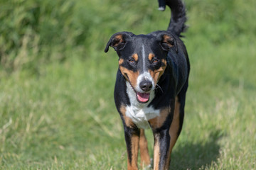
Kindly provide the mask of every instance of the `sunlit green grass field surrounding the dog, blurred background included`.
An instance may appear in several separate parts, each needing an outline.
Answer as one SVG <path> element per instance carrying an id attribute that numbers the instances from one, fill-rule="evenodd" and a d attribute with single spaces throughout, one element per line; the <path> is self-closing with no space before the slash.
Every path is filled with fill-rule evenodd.
<path id="1" fill-rule="evenodd" d="M 256 169 L 256 2 L 185 3 L 191 77 L 171 169 Z M 0 169 L 126 169 L 118 57 L 104 49 L 119 31 L 165 30 L 157 7 L 0 1 Z"/>

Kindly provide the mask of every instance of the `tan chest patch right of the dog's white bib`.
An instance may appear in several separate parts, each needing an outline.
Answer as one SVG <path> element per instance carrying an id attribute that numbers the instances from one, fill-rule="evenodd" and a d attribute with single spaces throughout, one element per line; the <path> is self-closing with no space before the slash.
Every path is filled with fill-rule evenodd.
<path id="1" fill-rule="evenodd" d="M 161 126 L 164 124 L 170 112 L 171 112 L 170 108 L 164 108 L 160 111 L 159 116 L 157 116 L 156 118 L 150 119 L 149 124 L 151 125 L 151 128 L 153 129 L 161 128 Z"/>

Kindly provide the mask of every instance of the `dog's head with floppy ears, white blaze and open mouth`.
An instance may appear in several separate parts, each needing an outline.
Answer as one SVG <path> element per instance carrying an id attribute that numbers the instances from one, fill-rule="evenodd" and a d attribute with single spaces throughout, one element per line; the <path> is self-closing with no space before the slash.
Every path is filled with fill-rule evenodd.
<path id="1" fill-rule="evenodd" d="M 157 31 L 151 35 L 119 32 L 112 35 L 105 52 L 113 47 L 119 56 L 119 69 L 132 86 L 139 103 L 147 103 L 166 69 L 166 55 L 177 48 L 174 35 Z M 177 52 L 177 50 L 176 50 Z"/>

